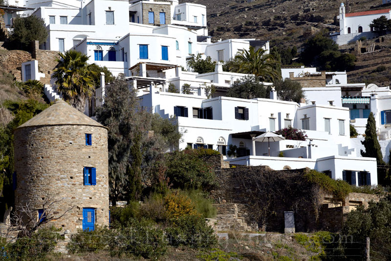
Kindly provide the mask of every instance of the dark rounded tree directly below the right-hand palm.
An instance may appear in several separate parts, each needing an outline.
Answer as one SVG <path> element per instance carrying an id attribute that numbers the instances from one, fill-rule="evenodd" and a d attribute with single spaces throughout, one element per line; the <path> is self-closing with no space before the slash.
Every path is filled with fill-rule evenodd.
<path id="1" fill-rule="evenodd" d="M 245 76 L 236 81 L 228 89 L 227 96 L 242 99 L 269 98 L 266 87 L 254 76 Z"/>

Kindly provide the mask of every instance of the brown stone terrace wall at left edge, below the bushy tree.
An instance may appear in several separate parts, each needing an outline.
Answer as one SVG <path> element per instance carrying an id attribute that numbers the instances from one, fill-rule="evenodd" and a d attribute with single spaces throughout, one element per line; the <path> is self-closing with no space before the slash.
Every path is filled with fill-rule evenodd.
<path id="1" fill-rule="evenodd" d="M 0 52 L 0 67 L 22 81 L 22 63 L 31 61 L 31 54 L 21 50 Z"/>

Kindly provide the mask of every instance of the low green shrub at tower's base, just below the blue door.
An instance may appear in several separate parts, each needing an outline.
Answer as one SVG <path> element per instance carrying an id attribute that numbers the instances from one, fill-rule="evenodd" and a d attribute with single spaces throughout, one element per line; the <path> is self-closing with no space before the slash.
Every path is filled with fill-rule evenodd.
<path id="1" fill-rule="evenodd" d="M 107 246 L 109 230 L 106 227 L 97 226 L 93 231 L 79 230 L 70 238 L 66 245 L 69 253 L 84 253 L 104 250 Z"/>

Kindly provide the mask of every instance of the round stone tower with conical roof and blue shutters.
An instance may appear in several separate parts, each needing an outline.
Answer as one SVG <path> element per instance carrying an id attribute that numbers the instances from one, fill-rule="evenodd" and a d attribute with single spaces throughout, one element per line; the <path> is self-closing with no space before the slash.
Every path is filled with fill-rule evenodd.
<path id="1" fill-rule="evenodd" d="M 107 128 L 56 101 L 15 131 L 15 205 L 29 203 L 37 218 L 49 197 L 60 219 L 49 223 L 71 233 L 109 224 Z"/>

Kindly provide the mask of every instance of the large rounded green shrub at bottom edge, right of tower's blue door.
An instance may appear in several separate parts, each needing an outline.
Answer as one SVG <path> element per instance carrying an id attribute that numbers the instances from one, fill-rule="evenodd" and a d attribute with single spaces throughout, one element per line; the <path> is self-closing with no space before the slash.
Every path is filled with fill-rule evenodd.
<path id="1" fill-rule="evenodd" d="M 155 223 L 145 218 L 129 221 L 109 237 L 110 255 L 156 259 L 166 253 L 167 239 Z"/>

